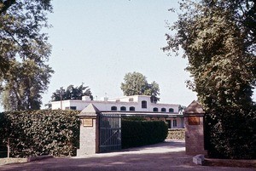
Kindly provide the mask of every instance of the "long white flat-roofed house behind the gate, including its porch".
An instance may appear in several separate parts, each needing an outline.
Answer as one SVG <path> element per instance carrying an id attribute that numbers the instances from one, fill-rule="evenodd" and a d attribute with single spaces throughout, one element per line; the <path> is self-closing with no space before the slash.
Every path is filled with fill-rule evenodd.
<path id="1" fill-rule="evenodd" d="M 151 103 L 148 95 L 104 98 L 104 100 L 90 100 L 89 96 L 83 96 L 82 100 L 53 101 L 51 104 L 53 110 L 83 111 L 87 105 L 93 104 L 99 111 L 126 111 L 132 112 L 133 115 L 147 113 L 149 120 L 163 120 L 168 123 L 169 128 L 183 128 L 183 113 L 178 111 L 179 105 Z"/>

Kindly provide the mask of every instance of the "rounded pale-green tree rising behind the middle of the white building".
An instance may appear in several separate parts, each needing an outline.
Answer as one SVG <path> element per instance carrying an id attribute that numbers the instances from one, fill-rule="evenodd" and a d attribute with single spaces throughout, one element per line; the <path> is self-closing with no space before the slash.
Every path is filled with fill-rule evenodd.
<path id="1" fill-rule="evenodd" d="M 158 83 L 148 83 L 147 78 L 139 72 L 129 72 L 125 74 L 125 83 L 121 83 L 121 89 L 124 95 L 150 95 L 151 102 L 156 103 L 160 100 Z"/>

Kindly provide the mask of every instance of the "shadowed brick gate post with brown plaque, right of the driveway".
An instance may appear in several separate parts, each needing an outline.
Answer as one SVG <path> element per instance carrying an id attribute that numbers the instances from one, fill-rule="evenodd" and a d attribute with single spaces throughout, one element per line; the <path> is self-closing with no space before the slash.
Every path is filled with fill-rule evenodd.
<path id="1" fill-rule="evenodd" d="M 184 111 L 185 146 L 187 155 L 207 155 L 204 138 L 204 116 L 201 105 L 195 100 Z"/>

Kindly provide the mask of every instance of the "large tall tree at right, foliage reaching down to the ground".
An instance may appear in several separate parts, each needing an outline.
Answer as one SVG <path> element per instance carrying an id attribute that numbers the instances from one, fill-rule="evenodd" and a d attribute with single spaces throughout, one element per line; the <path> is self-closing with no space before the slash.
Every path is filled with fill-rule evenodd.
<path id="1" fill-rule="evenodd" d="M 177 32 L 166 34 L 163 50 L 177 53 L 183 48 L 189 60 L 186 69 L 194 78 L 189 86 L 208 113 L 212 157 L 255 154 L 255 7 L 252 0 L 185 0 L 170 26 Z"/>

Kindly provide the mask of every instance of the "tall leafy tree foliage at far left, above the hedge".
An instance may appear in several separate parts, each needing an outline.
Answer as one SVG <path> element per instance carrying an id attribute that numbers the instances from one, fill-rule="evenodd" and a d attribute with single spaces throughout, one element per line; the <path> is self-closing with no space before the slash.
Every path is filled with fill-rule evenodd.
<path id="1" fill-rule="evenodd" d="M 0 82 L 7 111 L 38 109 L 52 69 L 46 12 L 49 0 L 0 1 Z"/>

